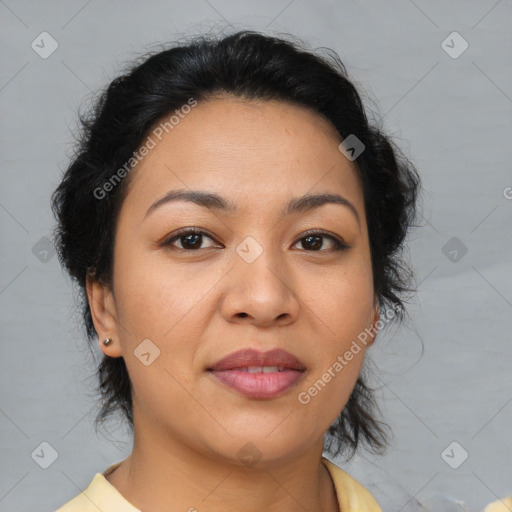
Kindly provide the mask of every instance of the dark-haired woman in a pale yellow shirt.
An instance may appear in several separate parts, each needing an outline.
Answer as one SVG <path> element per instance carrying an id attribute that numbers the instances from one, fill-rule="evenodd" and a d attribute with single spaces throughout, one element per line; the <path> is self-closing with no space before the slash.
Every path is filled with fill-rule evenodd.
<path id="1" fill-rule="evenodd" d="M 386 445 L 361 369 L 404 314 L 419 178 L 339 58 L 199 38 L 116 78 L 82 135 L 59 256 L 98 421 L 134 441 L 59 510 L 380 511 L 323 450 Z"/>

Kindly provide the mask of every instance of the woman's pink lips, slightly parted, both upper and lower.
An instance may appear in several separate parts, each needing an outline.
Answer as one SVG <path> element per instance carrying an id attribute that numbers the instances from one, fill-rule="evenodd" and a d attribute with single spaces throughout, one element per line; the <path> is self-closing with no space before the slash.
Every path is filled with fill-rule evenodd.
<path id="1" fill-rule="evenodd" d="M 255 373 L 248 367 L 274 366 L 278 371 Z M 250 398 L 270 399 L 285 393 L 304 377 L 306 367 L 293 354 L 282 349 L 259 352 L 244 349 L 233 352 L 208 369 L 220 382 Z"/>

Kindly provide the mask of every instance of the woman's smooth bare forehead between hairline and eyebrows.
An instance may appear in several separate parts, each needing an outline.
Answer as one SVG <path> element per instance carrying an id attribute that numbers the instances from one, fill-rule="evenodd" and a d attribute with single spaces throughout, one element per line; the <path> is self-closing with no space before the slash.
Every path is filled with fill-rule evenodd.
<path id="1" fill-rule="evenodd" d="M 147 205 L 171 188 L 223 191 L 236 203 L 252 197 L 267 204 L 264 198 L 314 189 L 361 199 L 355 165 L 338 149 L 340 136 L 313 110 L 223 96 L 187 111 L 150 131 L 155 144 L 132 171 L 130 202 Z"/>

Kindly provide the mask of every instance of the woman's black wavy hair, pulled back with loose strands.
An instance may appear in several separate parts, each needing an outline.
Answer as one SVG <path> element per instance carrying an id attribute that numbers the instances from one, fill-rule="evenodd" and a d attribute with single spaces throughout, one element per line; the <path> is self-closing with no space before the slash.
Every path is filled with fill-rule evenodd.
<path id="1" fill-rule="evenodd" d="M 364 151 L 354 161 L 364 191 L 373 284 L 381 312 L 393 307 L 400 321 L 412 272 L 403 243 L 416 213 L 419 177 L 412 163 L 372 126 L 339 57 L 304 44 L 253 31 L 201 36 L 160 50 L 115 78 L 94 107 L 81 116 L 77 151 L 52 196 L 61 263 L 79 287 L 89 341 L 96 332 L 85 291 L 86 277 L 111 284 L 117 216 L 131 175 L 106 187 L 133 157 L 149 130 L 190 99 L 217 94 L 281 100 L 313 109 L 341 139 L 355 135 Z M 121 173 L 126 174 L 126 173 Z M 102 198 L 98 199 L 98 190 Z M 108 193 L 106 192 L 108 190 Z M 103 197 L 104 196 L 104 197 Z M 122 411 L 133 432 L 131 384 L 124 359 L 103 356 L 98 370 L 101 410 L 96 425 Z M 352 395 L 329 428 L 333 454 L 355 453 L 360 441 L 379 452 L 388 444 L 386 425 L 375 418 L 372 393 L 359 376 Z"/>

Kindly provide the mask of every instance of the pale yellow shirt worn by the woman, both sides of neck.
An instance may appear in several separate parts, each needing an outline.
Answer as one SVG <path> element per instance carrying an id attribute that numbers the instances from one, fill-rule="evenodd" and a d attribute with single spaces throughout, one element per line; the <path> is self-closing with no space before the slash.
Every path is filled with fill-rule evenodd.
<path id="1" fill-rule="evenodd" d="M 322 457 L 336 488 L 340 512 L 382 512 L 372 495 L 348 473 Z M 109 466 L 105 473 L 114 470 L 121 462 Z M 89 487 L 68 501 L 56 512 L 141 512 L 129 503 L 103 476 L 96 473 Z"/>

